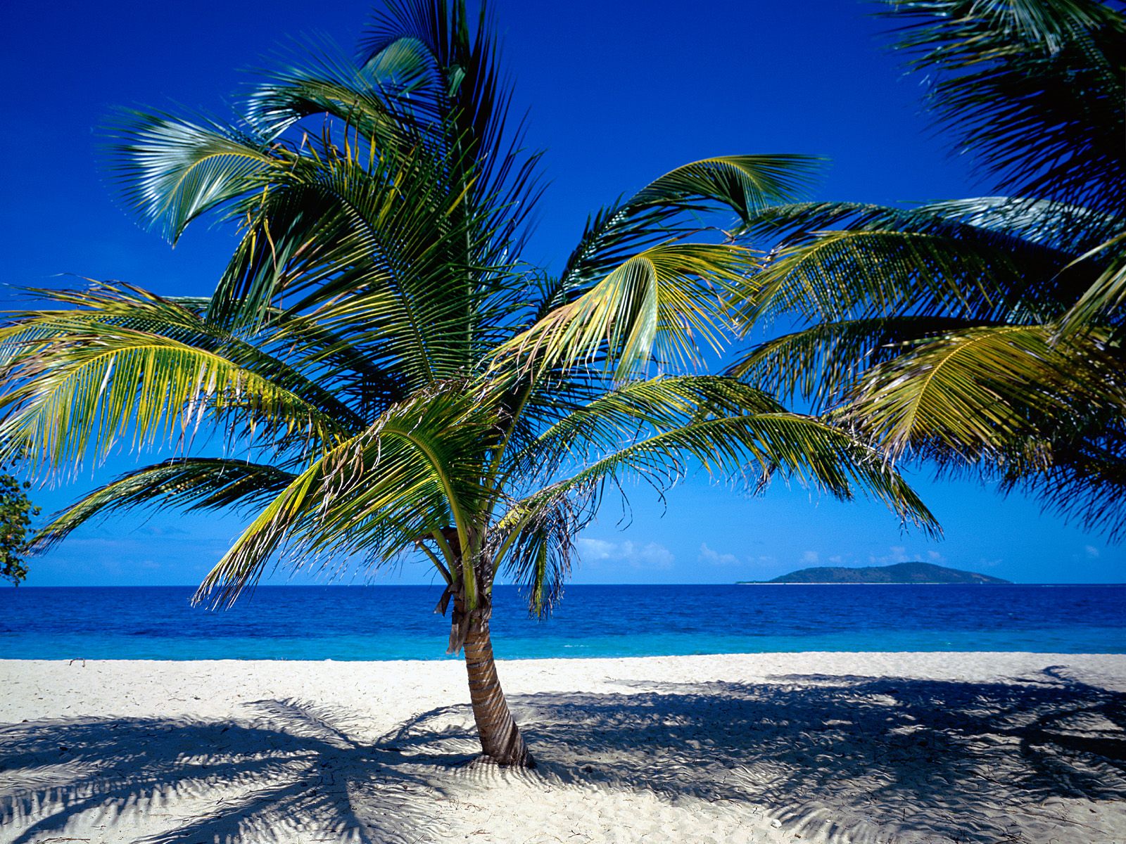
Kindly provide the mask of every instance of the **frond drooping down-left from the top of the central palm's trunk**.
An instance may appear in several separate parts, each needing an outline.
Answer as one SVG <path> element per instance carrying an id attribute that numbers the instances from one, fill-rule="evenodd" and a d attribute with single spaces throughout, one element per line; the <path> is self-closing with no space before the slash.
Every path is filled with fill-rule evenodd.
<path id="1" fill-rule="evenodd" d="M 472 385 L 436 385 L 321 455 L 235 540 L 197 600 L 233 601 L 277 554 L 297 568 L 354 555 L 375 567 L 452 528 L 461 558 L 447 563 L 473 578 L 481 548 L 470 517 L 486 495 L 480 446 L 495 429 L 484 397 Z"/>

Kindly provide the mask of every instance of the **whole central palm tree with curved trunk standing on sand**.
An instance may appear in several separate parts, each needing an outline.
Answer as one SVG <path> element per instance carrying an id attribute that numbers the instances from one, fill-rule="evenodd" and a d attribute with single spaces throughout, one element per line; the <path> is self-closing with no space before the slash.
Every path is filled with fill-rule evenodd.
<path id="1" fill-rule="evenodd" d="M 375 17 L 358 61 L 278 72 L 233 126 L 128 116 L 114 167 L 133 209 L 173 242 L 207 215 L 241 239 L 206 299 L 43 293 L 59 307 L 0 334 L 0 442 L 63 472 L 128 439 L 177 445 L 56 515 L 39 546 L 117 510 L 242 508 L 198 600 L 232 601 L 277 560 L 428 563 L 483 752 L 527 765 L 493 662 L 493 583 L 547 611 L 605 491 L 696 465 L 752 486 L 777 472 L 935 524 L 849 432 L 699 374 L 756 266 L 700 219 L 794 198 L 814 162 L 681 167 L 591 216 L 552 273 L 520 258 L 537 156 L 506 127 L 509 97 L 488 20 L 415 0 Z M 197 456 L 208 431 L 221 454 Z"/>

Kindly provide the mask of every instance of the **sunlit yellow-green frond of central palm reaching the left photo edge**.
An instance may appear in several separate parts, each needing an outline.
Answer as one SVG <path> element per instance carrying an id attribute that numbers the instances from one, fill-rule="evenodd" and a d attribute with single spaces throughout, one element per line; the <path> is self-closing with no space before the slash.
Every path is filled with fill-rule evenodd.
<path id="1" fill-rule="evenodd" d="M 157 311 L 143 318 L 151 322 Z M 181 327 L 198 323 L 190 312 L 179 313 Z M 23 454 L 33 467 L 77 467 L 88 448 L 105 457 L 131 430 L 136 448 L 186 443 L 204 417 L 232 436 L 266 437 L 279 447 L 301 442 L 315 450 L 347 432 L 346 422 L 297 392 L 339 410 L 323 388 L 284 365 L 263 367 L 267 356 L 256 357 L 247 344 L 190 342 L 198 339 L 81 311 L 17 318 L 0 330 L 0 345 L 15 347 L 0 371 L 2 454 Z"/>

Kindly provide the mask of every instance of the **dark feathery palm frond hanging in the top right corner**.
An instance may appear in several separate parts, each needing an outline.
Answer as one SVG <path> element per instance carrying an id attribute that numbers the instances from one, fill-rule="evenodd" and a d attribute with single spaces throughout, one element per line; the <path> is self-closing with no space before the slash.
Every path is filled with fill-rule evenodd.
<path id="1" fill-rule="evenodd" d="M 1002 190 L 1126 207 L 1126 23 L 1098 0 L 890 0 L 928 104 Z"/>

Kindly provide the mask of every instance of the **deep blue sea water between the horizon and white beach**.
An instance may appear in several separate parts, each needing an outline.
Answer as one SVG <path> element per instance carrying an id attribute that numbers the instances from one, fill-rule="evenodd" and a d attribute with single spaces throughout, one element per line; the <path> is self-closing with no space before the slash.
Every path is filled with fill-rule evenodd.
<path id="1" fill-rule="evenodd" d="M 0 590 L 0 657 L 432 659 L 437 586 L 263 586 L 233 609 L 189 587 Z M 549 620 L 498 586 L 498 657 L 797 650 L 1126 653 L 1126 585 L 575 585 Z"/>

